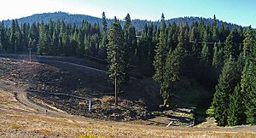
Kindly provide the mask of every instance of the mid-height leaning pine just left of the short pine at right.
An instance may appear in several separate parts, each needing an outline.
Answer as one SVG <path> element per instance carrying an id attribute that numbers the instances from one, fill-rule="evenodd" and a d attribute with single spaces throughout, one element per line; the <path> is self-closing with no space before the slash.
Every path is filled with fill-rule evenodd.
<path id="1" fill-rule="evenodd" d="M 214 109 L 214 118 L 218 125 L 228 124 L 228 108 L 230 106 L 230 94 L 232 94 L 236 85 L 236 62 L 230 57 L 224 64 L 224 68 L 218 79 L 218 85 L 213 97 L 212 106 Z"/>

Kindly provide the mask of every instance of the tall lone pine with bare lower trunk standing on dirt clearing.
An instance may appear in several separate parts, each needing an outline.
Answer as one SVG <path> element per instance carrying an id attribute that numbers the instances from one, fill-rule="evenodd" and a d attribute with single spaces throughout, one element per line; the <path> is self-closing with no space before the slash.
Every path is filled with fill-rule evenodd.
<path id="1" fill-rule="evenodd" d="M 119 21 L 114 20 L 108 32 L 108 78 L 115 88 L 115 104 L 118 104 L 118 91 L 125 82 L 124 33 Z"/>

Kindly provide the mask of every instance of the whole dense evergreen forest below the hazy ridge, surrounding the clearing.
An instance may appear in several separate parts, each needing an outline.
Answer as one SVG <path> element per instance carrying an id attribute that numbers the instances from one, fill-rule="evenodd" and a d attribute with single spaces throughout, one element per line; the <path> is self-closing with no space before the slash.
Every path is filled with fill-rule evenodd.
<path id="1" fill-rule="evenodd" d="M 136 32 L 129 14 L 123 23 L 115 18 L 108 26 L 105 13 L 100 22 L 83 20 L 81 26 L 64 20 L 4 24 L 2 53 L 26 53 L 32 48 L 38 55 L 108 60 L 109 82 L 116 92 L 129 81 L 131 66 L 137 66 L 160 83 L 164 106 L 172 106 L 177 83 L 190 78 L 215 91 L 209 114 L 219 125 L 256 124 L 256 37 L 251 26 L 230 28 L 215 16 L 212 22 L 168 23 L 162 14 L 157 25 L 149 22 Z"/>

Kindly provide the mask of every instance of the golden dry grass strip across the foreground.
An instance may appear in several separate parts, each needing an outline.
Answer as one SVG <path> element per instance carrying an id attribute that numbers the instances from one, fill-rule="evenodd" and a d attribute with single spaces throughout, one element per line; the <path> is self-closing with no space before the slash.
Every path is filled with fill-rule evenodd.
<path id="1" fill-rule="evenodd" d="M 0 137 L 256 137 L 255 129 L 159 127 L 137 122 L 112 122 L 49 116 L 37 113 L 15 101 L 15 95 L 0 90 Z M 108 99 L 108 98 L 106 98 Z M 142 121 L 138 121 L 142 122 Z"/>

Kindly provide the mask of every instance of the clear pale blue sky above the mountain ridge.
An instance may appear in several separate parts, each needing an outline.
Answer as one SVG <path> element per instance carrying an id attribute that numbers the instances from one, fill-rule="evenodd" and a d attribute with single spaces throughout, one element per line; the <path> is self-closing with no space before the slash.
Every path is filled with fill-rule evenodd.
<path id="1" fill-rule="evenodd" d="M 159 20 L 183 16 L 200 16 L 256 28 L 256 0 L 1 0 L 0 20 L 15 19 L 32 14 L 63 11 L 107 18 Z"/>

